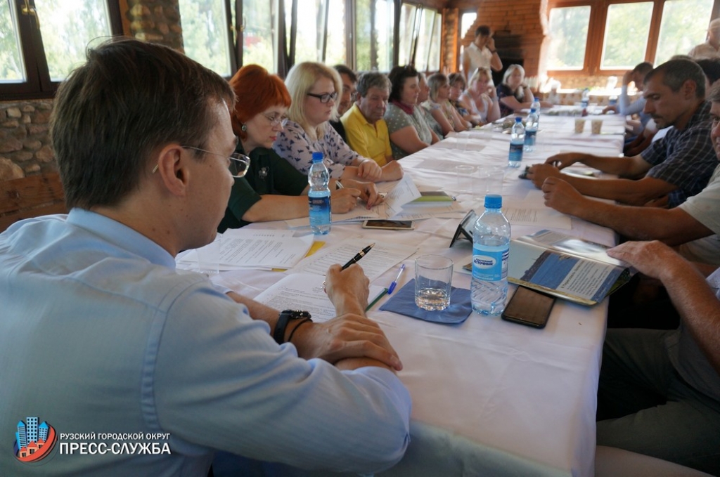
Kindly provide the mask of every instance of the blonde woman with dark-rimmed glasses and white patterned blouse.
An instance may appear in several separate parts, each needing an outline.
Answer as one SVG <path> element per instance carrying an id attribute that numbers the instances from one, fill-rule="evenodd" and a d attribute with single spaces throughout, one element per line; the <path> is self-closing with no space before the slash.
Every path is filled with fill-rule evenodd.
<path id="1" fill-rule="evenodd" d="M 402 166 L 395 161 L 382 168 L 346 144 L 330 126 L 338 119 L 338 91 L 343 86 L 334 68 L 323 63 L 298 63 L 289 71 L 285 85 L 292 99 L 289 121 L 273 145 L 275 152 L 298 171 L 307 174 L 312 153 L 323 153 L 331 178 L 358 181 L 395 181 L 402 178 Z"/>

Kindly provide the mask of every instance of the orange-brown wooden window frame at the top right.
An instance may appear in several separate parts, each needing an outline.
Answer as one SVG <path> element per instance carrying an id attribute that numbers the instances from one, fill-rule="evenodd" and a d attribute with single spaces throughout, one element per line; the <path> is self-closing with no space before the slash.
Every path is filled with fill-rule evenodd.
<path id="1" fill-rule="evenodd" d="M 605 27 L 608 18 L 608 7 L 614 4 L 634 4 L 642 1 L 652 1 L 652 15 L 645 48 L 645 56 L 642 61 L 654 63 L 655 50 L 660 37 L 660 23 L 662 11 L 666 0 L 549 0 L 546 11 L 546 18 L 549 19 L 550 10 L 568 6 L 590 6 L 590 24 L 588 24 L 588 42 L 585 47 L 585 62 L 581 70 L 547 70 L 547 75 L 554 78 L 569 76 L 610 76 L 622 75 L 625 70 L 602 68 L 600 61 L 603 56 L 603 45 L 605 44 Z M 713 1 L 711 19 L 719 17 L 720 0 Z M 601 41 L 593 41 L 600 38 Z"/>

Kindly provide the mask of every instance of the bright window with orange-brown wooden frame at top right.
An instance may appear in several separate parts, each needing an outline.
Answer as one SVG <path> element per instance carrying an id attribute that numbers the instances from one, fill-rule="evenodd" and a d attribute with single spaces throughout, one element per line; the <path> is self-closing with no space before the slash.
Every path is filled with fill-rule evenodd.
<path id="1" fill-rule="evenodd" d="M 720 1 L 550 0 L 547 68 L 559 76 L 621 73 L 685 55 L 705 41 L 714 6 Z"/>

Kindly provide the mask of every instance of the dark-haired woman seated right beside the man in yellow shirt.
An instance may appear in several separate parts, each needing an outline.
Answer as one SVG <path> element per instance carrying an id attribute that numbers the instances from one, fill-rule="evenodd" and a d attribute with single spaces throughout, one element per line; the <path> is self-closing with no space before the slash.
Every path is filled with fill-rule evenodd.
<path id="1" fill-rule="evenodd" d="M 417 153 L 438 142 L 437 135 L 428 127 L 423 113 L 415 104 L 420 94 L 420 78 L 413 66 L 395 66 L 387 75 L 392 83 L 390 104 L 385 112 L 390 146 L 395 159 Z"/>

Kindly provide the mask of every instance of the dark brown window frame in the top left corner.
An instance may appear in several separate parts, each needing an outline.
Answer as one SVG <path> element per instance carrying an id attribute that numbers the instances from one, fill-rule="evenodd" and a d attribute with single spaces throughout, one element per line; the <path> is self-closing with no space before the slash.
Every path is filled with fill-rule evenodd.
<path id="1" fill-rule="evenodd" d="M 9 0 L 14 3 L 17 12 L 17 36 L 20 42 L 20 55 L 25 67 L 26 81 L 22 83 L 0 83 L 0 97 L 3 101 L 24 99 L 48 99 L 55 96 L 59 81 L 50 79 L 48 60 L 42 43 L 39 22 L 34 0 Z M 120 4 L 117 1 L 104 0 L 107 4 L 111 34 L 122 35 Z M 23 13 L 24 10 L 28 13 Z"/>

